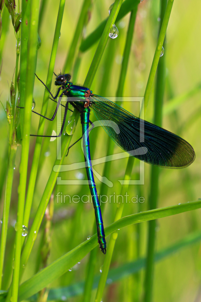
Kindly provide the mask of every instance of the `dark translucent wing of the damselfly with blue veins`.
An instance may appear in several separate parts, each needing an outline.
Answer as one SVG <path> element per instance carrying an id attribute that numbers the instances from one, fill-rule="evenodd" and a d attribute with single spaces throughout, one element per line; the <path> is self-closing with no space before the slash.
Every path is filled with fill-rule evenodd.
<path id="1" fill-rule="evenodd" d="M 130 155 L 158 167 L 180 169 L 195 159 L 192 146 L 183 138 L 135 117 L 98 95 L 91 97 L 97 119 L 108 135 Z"/>

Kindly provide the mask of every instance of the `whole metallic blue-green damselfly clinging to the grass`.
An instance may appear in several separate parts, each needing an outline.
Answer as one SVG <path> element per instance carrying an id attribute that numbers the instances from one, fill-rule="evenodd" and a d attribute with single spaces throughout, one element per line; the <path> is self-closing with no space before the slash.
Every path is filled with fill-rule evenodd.
<path id="1" fill-rule="evenodd" d="M 56 100 L 58 96 L 59 99 L 52 118 L 48 118 L 34 110 L 32 111 L 47 120 L 54 120 L 61 104 L 62 96 L 67 97 L 60 133 L 58 135 L 39 135 L 42 137 L 61 136 L 69 104 L 80 112 L 86 174 L 95 210 L 98 243 L 101 251 L 105 254 L 105 233 L 90 157 L 90 110 L 94 112 L 102 127 L 118 146 L 130 155 L 151 165 L 172 169 L 185 168 L 194 161 L 195 153 L 193 147 L 176 134 L 134 116 L 117 104 L 99 95 L 95 95 L 86 87 L 74 85 L 70 82 L 70 79 L 71 76 L 69 74 L 59 74 L 56 76 L 55 85 L 60 87 L 55 96 L 52 95 L 46 85 L 39 79 L 47 88 L 52 99 Z"/>

